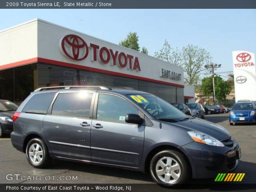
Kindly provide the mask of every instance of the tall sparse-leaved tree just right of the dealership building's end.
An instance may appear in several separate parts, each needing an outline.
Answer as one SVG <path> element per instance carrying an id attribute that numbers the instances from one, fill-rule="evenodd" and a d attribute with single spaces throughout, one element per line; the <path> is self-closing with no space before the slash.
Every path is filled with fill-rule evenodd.
<path id="1" fill-rule="evenodd" d="M 204 65 L 211 63 L 210 53 L 203 48 L 188 44 L 182 49 L 182 66 L 184 69 L 184 82 L 197 85 L 200 72 L 205 70 Z"/>

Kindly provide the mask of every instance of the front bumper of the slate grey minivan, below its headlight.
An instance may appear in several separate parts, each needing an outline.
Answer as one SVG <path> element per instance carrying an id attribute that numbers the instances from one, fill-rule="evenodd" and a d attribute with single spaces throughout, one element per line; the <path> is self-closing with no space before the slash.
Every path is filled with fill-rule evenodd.
<path id="1" fill-rule="evenodd" d="M 238 166 L 241 157 L 241 149 L 235 140 L 232 147 L 191 142 L 181 148 L 190 161 L 193 178 L 214 178 L 220 172 L 230 172 Z"/>

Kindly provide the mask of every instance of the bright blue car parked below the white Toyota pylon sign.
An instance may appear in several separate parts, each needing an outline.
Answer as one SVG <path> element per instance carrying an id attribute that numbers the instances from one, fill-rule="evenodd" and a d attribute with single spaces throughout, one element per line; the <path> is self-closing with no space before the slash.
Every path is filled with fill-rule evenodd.
<path id="1" fill-rule="evenodd" d="M 255 123 L 256 105 L 254 102 L 236 102 L 229 115 L 229 124 Z"/>

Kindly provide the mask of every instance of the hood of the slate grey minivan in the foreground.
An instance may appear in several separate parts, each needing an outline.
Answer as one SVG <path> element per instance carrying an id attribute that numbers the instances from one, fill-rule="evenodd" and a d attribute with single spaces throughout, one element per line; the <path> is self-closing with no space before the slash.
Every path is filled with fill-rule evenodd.
<path id="1" fill-rule="evenodd" d="M 219 141 L 229 138 L 231 135 L 224 127 L 198 118 L 172 123 L 187 130 L 199 131 L 208 134 Z"/>

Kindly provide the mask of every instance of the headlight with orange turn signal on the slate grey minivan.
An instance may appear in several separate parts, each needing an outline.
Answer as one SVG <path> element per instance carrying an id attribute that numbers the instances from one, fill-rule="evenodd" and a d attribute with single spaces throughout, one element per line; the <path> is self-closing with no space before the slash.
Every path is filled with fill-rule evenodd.
<path id="1" fill-rule="evenodd" d="M 195 142 L 212 146 L 224 147 L 224 144 L 222 142 L 202 132 L 188 131 L 188 134 Z"/>

